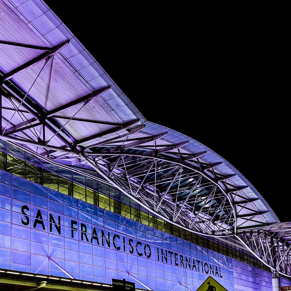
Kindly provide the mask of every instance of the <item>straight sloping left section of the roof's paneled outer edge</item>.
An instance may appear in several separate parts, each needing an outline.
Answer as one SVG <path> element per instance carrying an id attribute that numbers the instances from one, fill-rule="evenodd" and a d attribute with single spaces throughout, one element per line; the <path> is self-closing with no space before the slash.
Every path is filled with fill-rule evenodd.
<path id="1" fill-rule="evenodd" d="M 86 48 L 82 45 L 82 43 L 74 36 L 74 34 L 68 29 L 68 27 L 61 21 L 61 19 L 49 8 L 49 6 L 42 0 L 34 1 L 35 10 L 39 9 L 40 12 L 32 9 L 30 10 L 20 10 L 22 4 L 19 4 L 19 1 L 15 2 L 18 4 L 13 4 L 13 1 L 3 0 L 6 5 L 14 10 L 14 12 L 22 18 L 25 22 L 30 24 L 30 28 L 38 35 L 42 40 L 51 45 L 52 47 L 62 43 L 63 41 L 70 40 L 70 44 L 67 49 L 60 50 L 60 54 L 63 58 L 70 64 L 74 70 L 79 74 L 79 78 L 83 80 L 86 85 L 89 85 L 93 91 L 100 89 L 96 87 L 94 80 L 102 78 L 102 86 L 110 86 L 111 87 L 111 95 L 108 94 L 108 97 L 103 97 L 104 102 L 107 104 L 109 108 L 115 113 L 116 116 L 124 123 L 133 120 L 139 119 L 141 123 L 145 122 L 146 119 L 141 114 L 141 112 L 135 107 L 135 105 L 129 100 L 129 98 L 123 93 L 123 91 L 118 87 L 118 85 L 111 79 L 111 77 L 107 74 L 107 72 L 101 67 L 101 65 L 96 61 L 96 59 L 86 50 Z M 45 7 L 45 9 L 44 9 Z M 48 9 L 48 10 L 47 10 Z M 46 22 L 43 23 L 43 26 L 52 27 L 51 31 L 48 33 L 43 33 L 42 31 L 45 29 L 42 27 L 41 22 L 37 22 L 36 19 L 39 19 L 45 15 Z M 35 17 L 35 19 L 32 19 Z M 56 24 L 56 22 L 59 22 Z M 72 55 L 71 53 L 74 51 L 76 54 Z M 86 56 L 84 54 L 86 53 Z M 71 61 L 74 59 L 73 61 Z M 77 60 L 77 61 L 76 61 Z M 78 65 L 82 62 L 87 61 L 88 66 L 85 68 L 78 68 Z M 79 63 L 78 63 L 79 62 Z M 90 69 L 90 74 L 88 73 Z M 85 72 L 86 70 L 86 72 Z M 95 77 L 95 78 L 94 78 Z M 100 82 L 99 82 L 100 83 Z M 114 92 L 114 94 L 113 94 Z M 112 98 L 111 98 L 112 97 Z M 109 99 L 107 99 L 109 98 Z M 113 108 L 110 100 L 118 98 L 120 107 Z M 116 102 L 115 102 L 116 103 Z"/>

